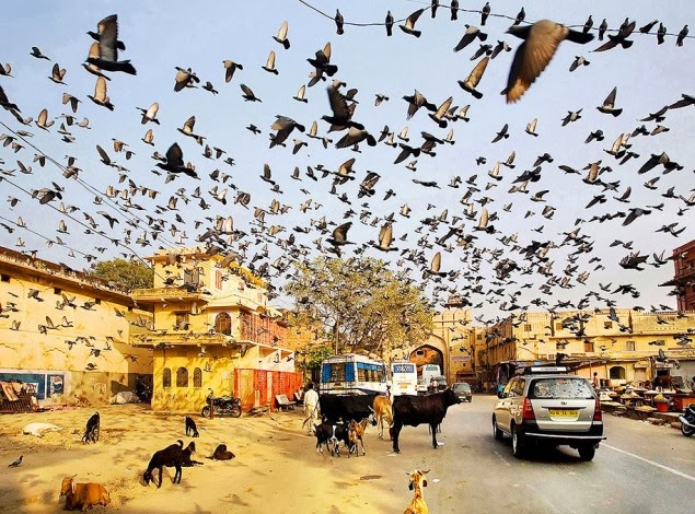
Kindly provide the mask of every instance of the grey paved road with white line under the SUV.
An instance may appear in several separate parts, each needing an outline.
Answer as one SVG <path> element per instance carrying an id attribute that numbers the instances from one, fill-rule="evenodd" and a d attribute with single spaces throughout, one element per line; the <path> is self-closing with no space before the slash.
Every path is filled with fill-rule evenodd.
<path id="1" fill-rule="evenodd" d="M 440 479 L 426 490 L 431 512 L 692 512 L 695 446 L 680 431 L 609 414 L 593 462 L 569 447 L 519 460 L 509 439 L 491 436 L 495 399 L 451 408 L 437 452 L 427 428 L 404 429 L 401 456 L 417 451 Z"/>

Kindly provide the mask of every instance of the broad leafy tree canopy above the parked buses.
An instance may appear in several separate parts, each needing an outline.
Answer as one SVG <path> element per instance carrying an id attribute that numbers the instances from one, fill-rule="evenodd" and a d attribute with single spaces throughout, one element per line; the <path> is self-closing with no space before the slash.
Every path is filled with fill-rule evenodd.
<path id="1" fill-rule="evenodd" d="M 422 342 L 432 314 L 421 292 L 374 258 L 317 257 L 294 262 L 283 291 L 296 302 L 299 323 L 321 326 L 337 353 L 380 357 Z"/>

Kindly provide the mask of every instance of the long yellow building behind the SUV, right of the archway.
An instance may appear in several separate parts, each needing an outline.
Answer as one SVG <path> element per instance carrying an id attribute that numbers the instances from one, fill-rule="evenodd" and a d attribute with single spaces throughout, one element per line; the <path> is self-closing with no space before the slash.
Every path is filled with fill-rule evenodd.
<path id="1" fill-rule="evenodd" d="M 628 308 L 524 313 L 480 329 L 483 367 L 506 381 L 509 363 L 555 362 L 603 381 L 645 383 L 659 375 L 695 375 L 695 312 Z"/>

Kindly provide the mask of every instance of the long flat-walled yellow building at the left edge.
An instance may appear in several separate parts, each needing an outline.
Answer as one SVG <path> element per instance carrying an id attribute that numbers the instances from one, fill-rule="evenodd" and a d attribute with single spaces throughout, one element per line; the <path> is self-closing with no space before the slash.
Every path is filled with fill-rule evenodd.
<path id="1" fill-rule="evenodd" d="M 151 382 L 152 352 L 128 343 L 151 322 L 126 291 L 0 247 L 0 381 L 33 384 L 40 405 L 108 402 Z"/>

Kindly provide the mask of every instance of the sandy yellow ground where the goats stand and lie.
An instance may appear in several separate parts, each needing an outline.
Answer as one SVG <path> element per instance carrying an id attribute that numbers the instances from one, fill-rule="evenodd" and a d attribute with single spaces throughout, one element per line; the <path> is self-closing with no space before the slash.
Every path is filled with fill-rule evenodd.
<path id="1" fill-rule="evenodd" d="M 366 457 L 332 459 L 316 454 L 315 437 L 302 430 L 301 409 L 239 419 L 192 414 L 200 432 L 195 440 L 185 436 L 183 414 L 155 413 L 148 405 L 97 410 L 101 437 L 88 445 L 81 435 L 94 408 L 0 414 L 0 512 L 62 511 L 60 482 L 74 474 L 79 482 L 106 487 L 112 498 L 106 510 L 128 513 L 363 514 L 403 512 L 409 502 L 399 467 L 393 474 L 374 474 L 374 459 L 383 462 L 391 446 L 377 440 L 374 428 L 367 433 Z M 22 428 L 31 422 L 54 423 L 62 430 L 40 439 L 22 435 Z M 164 468 L 162 488 L 146 487 L 142 472 L 152 454 L 178 439 L 185 444 L 195 441 L 193 458 L 204 465 L 184 468 L 181 484 L 172 483 L 174 469 Z M 220 443 L 236 458 L 205 458 Z M 22 464 L 8 468 L 20 455 Z"/>

